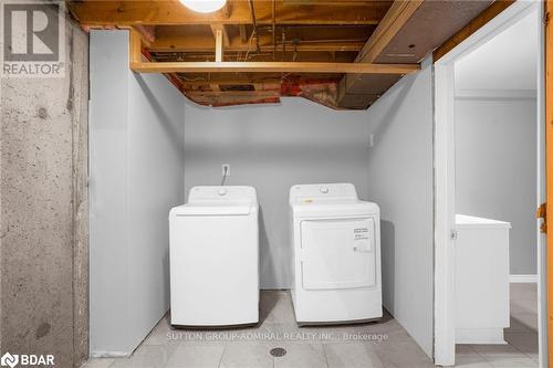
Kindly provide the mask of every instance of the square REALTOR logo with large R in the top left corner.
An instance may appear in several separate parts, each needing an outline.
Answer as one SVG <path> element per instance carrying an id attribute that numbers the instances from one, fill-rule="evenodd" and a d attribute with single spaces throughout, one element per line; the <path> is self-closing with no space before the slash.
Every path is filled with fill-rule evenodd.
<path id="1" fill-rule="evenodd" d="M 2 1 L 2 76 L 63 76 L 63 2 Z"/>

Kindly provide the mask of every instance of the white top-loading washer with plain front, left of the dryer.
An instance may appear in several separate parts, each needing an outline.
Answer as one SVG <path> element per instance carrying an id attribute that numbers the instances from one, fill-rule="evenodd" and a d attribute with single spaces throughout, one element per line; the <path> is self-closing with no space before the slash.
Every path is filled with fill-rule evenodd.
<path id="1" fill-rule="evenodd" d="M 259 322 L 258 199 L 252 187 L 194 187 L 169 213 L 171 325 Z"/>

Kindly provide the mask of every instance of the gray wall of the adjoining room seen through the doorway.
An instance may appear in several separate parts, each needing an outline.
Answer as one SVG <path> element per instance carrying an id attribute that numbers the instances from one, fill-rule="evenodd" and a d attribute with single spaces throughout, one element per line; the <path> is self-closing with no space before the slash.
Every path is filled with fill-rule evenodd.
<path id="1" fill-rule="evenodd" d="M 511 274 L 536 273 L 535 114 L 535 99 L 456 102 L 457 209 L 511 222 Z"/>

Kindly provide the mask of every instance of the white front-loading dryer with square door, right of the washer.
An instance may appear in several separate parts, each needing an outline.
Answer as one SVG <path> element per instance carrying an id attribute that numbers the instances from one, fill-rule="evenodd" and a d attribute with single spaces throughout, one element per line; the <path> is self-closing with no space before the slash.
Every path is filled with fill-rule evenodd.
<path id="1" fill-rule="evenodd" d="M 380 318 L 380 214 L 351 183 L 290 189 L 292 299 L 300 325 Z"/>

